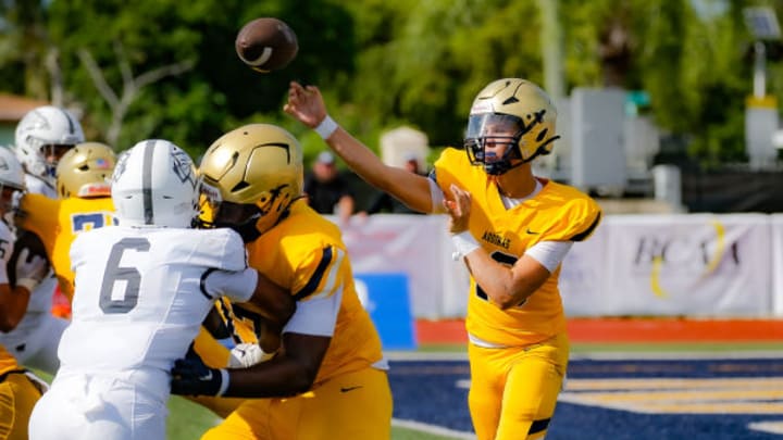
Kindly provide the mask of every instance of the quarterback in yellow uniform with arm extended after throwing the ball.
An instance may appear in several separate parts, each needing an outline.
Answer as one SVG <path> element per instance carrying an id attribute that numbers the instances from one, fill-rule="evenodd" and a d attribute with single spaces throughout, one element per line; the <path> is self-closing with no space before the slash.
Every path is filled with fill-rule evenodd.
<path id="1" fill-rule="evenodd" d="M 463 151 L 447 149 L 430 178 L 383 164 L 326 113 L 320 90 L 291 83 L 284 110 L 314 128 L 364 180 L 408 206 L 448 213 L 471 273 L 469 406 L 480 440 L 546 436 L 568 366 L 560 263 L 600 222 L 597 203 L 533 175 L 551 151 L 557 111 L 536 85 L 492 81 L 473 101 Z"/>

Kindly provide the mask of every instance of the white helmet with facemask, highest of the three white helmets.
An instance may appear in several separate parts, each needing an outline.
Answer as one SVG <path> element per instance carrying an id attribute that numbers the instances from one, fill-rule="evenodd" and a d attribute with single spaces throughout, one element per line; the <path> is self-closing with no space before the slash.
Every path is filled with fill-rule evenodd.
<path id="1" fill-rule="evenodd" d="M 60 150 L 84 142 L 84 131 L 79 122 L 67 110 L 44 105 L 30 110 L 22 117 L 16 125 L 14 142 L 16 158 L 27 173 L 42 177 L 54 186 L 54 171 L 59 158 L 47 161 L 47 156 L 53 155 L 55 151 L 64 153 Z"/>

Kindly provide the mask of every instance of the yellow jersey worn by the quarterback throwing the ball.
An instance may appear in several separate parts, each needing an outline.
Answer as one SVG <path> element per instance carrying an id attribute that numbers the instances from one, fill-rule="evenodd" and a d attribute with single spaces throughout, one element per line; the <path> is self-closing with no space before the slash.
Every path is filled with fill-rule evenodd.
<path id="1" fill-rule="evenodd" d="M 484 169 L 470 164 L 462 150 L 446 149 L 435 162 L 433 178 L 444 193 L 453 184 L 471 193 L 469 229 L 493 260 L 512 266 L 540 241 L 582 241 L 598 226 L 598 204 L 575 188 L 538 178 L 543 189 L 506 209 Z M 468 332 L 500 347 L 537 343 L 566 331 L 558 277 L 560 266 L 522 304 L 500 310 L 471 276 L 465 326 Z"/>

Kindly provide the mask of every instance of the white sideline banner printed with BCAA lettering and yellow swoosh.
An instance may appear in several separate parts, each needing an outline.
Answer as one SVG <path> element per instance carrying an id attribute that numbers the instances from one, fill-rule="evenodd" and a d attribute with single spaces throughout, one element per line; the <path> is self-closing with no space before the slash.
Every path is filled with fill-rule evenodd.
<path id="1" fill-rule="evenodd" d="M 601 315 L 763 316 L 772 310 L 769 215 L 618 215 L 602 227 Z"/>

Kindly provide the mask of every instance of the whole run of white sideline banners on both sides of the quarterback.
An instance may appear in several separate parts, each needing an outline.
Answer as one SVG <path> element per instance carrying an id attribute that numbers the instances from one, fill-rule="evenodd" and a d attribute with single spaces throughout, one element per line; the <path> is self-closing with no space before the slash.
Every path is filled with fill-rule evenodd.
<path id="1" fill-rule="evenodd" d="M 408 276 L 414 317 L 462 317 L 468 272 L 446 227 L 376 214 L 343 237 L 355 273 Z M 783 215 L 606 216 L 567 255 L 560 290 L 569 316 L 783 316 Z"/>

